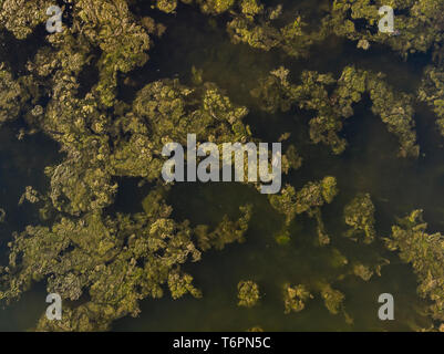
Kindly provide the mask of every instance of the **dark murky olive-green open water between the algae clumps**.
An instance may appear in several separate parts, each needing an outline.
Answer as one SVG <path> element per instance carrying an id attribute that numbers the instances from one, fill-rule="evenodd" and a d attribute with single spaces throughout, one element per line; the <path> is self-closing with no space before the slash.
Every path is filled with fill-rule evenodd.
<path id="1" fill-rule="evenodd" d="M 301 1 L 297 9 L 319 11 L 317 1 Z M 295 143 L 304 158 L 302 167 L 286 177 L 296 188 L 323 176 L 335 176 L 340 195 L 322 209 L 331 244 L 316 246 L 314 220 L 298 216 L 291 225 L 291 241 L 280 246 L 275 233 L 283 218 L 270 206 L 266 196 L 248 186 L 237 184 L 182 184 L 174 187 L 169 202 L 176 219 L 189 219 L 192 223 L 216 225 L 224 214 L 236 215 L 238 207 L 251 202 L 254 218 L 246 242 L 229 244 L 224 251 L 204 253 L 203 260 L 185 269 L 195 278 L 203 299 L 185 296 L 171 300 L 145 300 L 142 314 L 114 323 L 116 331 L 244 331 L 260 325 L 266 331 L 409 331 L 428 326 L 428 320 L 419 314 L 424 302 L 416 295 L 416 279 L 411 268 L 400 262 L 382 242 L 396 216 L 404 216 L 414 208 L 425 210 L 431 230 L 444 229 L 444 140 L 435 132 L 434 117 L 424 107 L 416 107 L 419 143 L 422 155 L 417 160 L 396 157 L 397 142 L 386 127 L 371 114 L 368 104 L 360 104 L 345 125 L 349 147 L 341 156 L 333 156 L 326 146 L 314 146 L 308 136 L 308 115 L 296 110 L 287 114 L 269 115 L 258 110 L 249 90 L 257 79 L 279 65 L 291 70 L 293 82 L 302 70 L 340 72 L 347 64 L 381 71 L 395 87 L 414 92 L 427 56 L 416 56 L 403 62 L 388 50 L 374 48 L 369 52 L 351 44 L 330 39 L 314 48 L 309 59 L 291 60 L 281 52 L 261 52 L 246 45 L 229 42 L 225 29 L 217 21 L 195 10 L 178 11 L 177 17 L 159 15 L 168 30 L 149 52 L 148 63 L 132 73 L 131 85 L 121 85 L 121 97 L 131 100 L 134 92 L 147 82 L 177 76 L 189 82 L 192 66 L 203 69 L 204 80 L 216 82 L 225 88 L 233 102 L 250 107 L 247 123 L 255 136 L 265 142 L 277 142 L 285 132 L 291 132 Z M 18 207 L 22 186 L 44 187 L 42 168 L 58 158 L 56 149 L 44 136 L 35 135 L 18 142 L 13 128 L 0 132 L 1 200 L 8 210 L 8 223 L 1 233 L 9 238 L 12 230 L 37 222 L 31 207 Z M 116 198 L 116 208 L 142 210 L 141 201 L 146 188 L 137 188 L 136 180 L 125 180 Z M 345 239 L 343 207 L 357 192 L 372 195 L 376 207 L 379 239 L 363 246 Z M 339 250 L 349 262 L 376 262 L 380 258 L 391 261 L 382 269 L 382 277 L 374 275 L 364 282 L 358 277 L 338 277 L 345 268 L 338 263 Z M 2 257 L 4 259 L 4 252 Z M 258 306 L 237 306 L 236 285 L 240 280 L 256 281 L 261 291 Z M 342 313 L 330 314 L 319 295 L 307 303 L 300 313 L 283 314 L 282 285 L 286 282 L 313 284 L 326 280 L 345 294 L 344 308 L 353 317 L 347 323 Z M 378 319 L 378 296 L 389 292 L 395 300 L 395 321 Z M 0 312 L 0 330 L 31 329 L 45 309 L 44 287 L 37 287 L 20 302 Z"/>

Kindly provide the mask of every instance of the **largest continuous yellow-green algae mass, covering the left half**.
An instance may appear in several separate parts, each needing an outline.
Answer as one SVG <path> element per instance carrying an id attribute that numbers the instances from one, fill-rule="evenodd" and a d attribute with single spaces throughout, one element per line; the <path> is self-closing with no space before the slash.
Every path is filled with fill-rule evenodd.
<path id="1" fill-rule="evenodd" d="M 52 45 L 40 48 L 19 79 L 0 66 L 1 121 L 23 113 L 29 126 L 51 136 L 62 153 L 60 163 L 45 168 L 48 192 L 28 186 L 20 199 L 41 207 L 51 223 L 14 233 L 9 264 L 1 269 L 0 294 L 8 303 L 40 281 L 72 301 L 63 306 L 62 321 L 41 317 L 37 329 L 44 331 L 109 330 L 114 320 L 137 315 L 142 299 L 163 296 L 166 289 L 173 299 L 202 296 L 180 264 L 244 240 L 251 216 L 250 206 L 241 207 L 238 220 L 225 216 L 214 230 L 178 222 L 159 177 L 164 144 L 185 142 L 187 132 L 217 144 L 246 140 L 247 108 L 231 104 L 215 84 L 186 87 L 177 80 L 148 83 L 132 104 L 121 102 L 117 75 L 147 61 L 149 37 L 126 1 L 78 1 L 75 11 L 73 25 L 51 35 Z M 10 17 L 3 11 L 1 24 L 8 25 Z M 32 31 L 34 22 L 27 23 L 14 35 Z M 99 81 L 81 96 L 79 77 L 93 58 Z M 44 95 L 48 104 L 35 105 Z M 154 183 L 145 212 L 105 210 L 121 177 Z"/>

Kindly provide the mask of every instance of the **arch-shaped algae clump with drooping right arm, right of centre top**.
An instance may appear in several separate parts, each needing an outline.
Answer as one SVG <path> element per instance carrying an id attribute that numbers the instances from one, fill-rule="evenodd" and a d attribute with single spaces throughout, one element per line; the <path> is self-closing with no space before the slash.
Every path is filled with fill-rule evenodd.
<path id="1" fill-rule="evenodd" d="M 292 105 L 314 111 L 316 116 L 309 122 L 310 138 L 314 144 L 323 143 L 334 154 L 343 153 L 347 147 L 347 140 L 340 136 L 343 121 L 353 115 L 353 105 L 368 93 L 373 103 L 372 112 L 399 139 L 399 155 L 419 156 L 412 96 L 394 91 L 385 83 L 383 74 L 354 66 L 344 67 L 338 80 L 331 74 L 303 72 L 300 85 L 289 83 L 288 75 L 285 67 L 272 71 L 269 76 L 259 79 L 251 95 L 258 98 L 261 110 L 270 113 L 289 111 Z"/>

